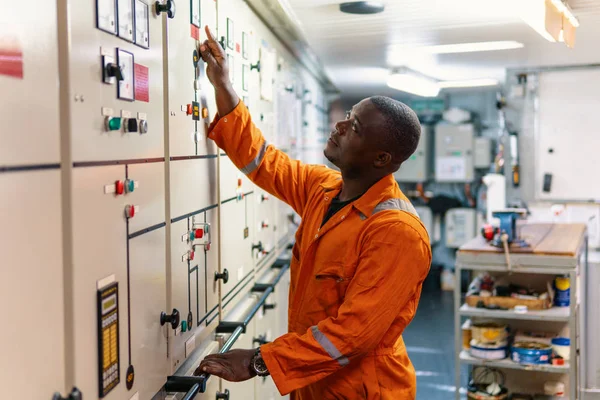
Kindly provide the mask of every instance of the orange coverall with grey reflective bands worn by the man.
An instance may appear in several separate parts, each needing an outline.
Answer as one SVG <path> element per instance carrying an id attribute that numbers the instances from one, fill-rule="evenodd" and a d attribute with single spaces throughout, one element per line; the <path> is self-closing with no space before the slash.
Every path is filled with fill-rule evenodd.
<path id="1" fill-rule="evenodd" d="M 292 400 L 414 399 L 402 332 L 429 272 L 429 237 L 392 175 L 321 227 L 342 187 L 339 172 L 269 145 L 240 103 L 209 138 L 256 185 L 302 218 L 290 266 L 289 333 L 261 346 Z"/>

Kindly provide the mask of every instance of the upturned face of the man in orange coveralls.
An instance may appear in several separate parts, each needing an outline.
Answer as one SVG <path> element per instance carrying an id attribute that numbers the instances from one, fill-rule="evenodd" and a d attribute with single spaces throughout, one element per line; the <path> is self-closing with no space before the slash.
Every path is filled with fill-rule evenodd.
<path id="1" fill-rule="evenodd" d="M 364 99 L 335 124 L 325 150 L 325 157 L 348 177 L 364 173 L 373 165 L 379 152 L 378 135 L 382 116 L 369 99 Z"/>

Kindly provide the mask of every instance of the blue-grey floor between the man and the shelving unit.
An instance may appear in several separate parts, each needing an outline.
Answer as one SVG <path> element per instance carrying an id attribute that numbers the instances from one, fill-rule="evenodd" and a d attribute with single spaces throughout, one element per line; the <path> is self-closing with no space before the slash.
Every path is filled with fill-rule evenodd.
<path id="1" fill-rule="evenodd" d="M 417 314 L 403 335 L 417 371 L 417 400 L 454 399 L 453 307 L 454 292 L 442 291 L 439 274 L 430 274 L 423 285 Z M 467 370 L 463 369 L 464 387 Z"/>

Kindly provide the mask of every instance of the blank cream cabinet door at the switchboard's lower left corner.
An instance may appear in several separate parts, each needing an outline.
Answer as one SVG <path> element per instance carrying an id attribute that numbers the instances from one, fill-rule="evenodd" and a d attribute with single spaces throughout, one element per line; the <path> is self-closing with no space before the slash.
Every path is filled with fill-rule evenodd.
<path id="1" fill-rule="evenodd" d="M 60 189 L 58 170 L 0 174 L 0 290 L 11 315 L 0 333 L 0 384 L 27 388 L 32 399 L 64 393 Z M 37 373 L 32 360 L 51 360 L 52 368 Z"/>

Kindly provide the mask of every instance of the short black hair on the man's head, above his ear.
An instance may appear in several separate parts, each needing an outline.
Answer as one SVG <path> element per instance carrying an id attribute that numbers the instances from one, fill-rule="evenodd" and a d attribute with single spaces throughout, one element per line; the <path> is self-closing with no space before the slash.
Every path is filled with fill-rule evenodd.
<path id="1" fill-rule="evenodd" d="M 419 144 L 421 123 L 417 114 L 406 104 L 386 96 L 372 96 L 371 103 L 384 118 L 388 137 L 386 145 L 392 152 L 394 163 L 402 164 L 410 157 Z"/>

